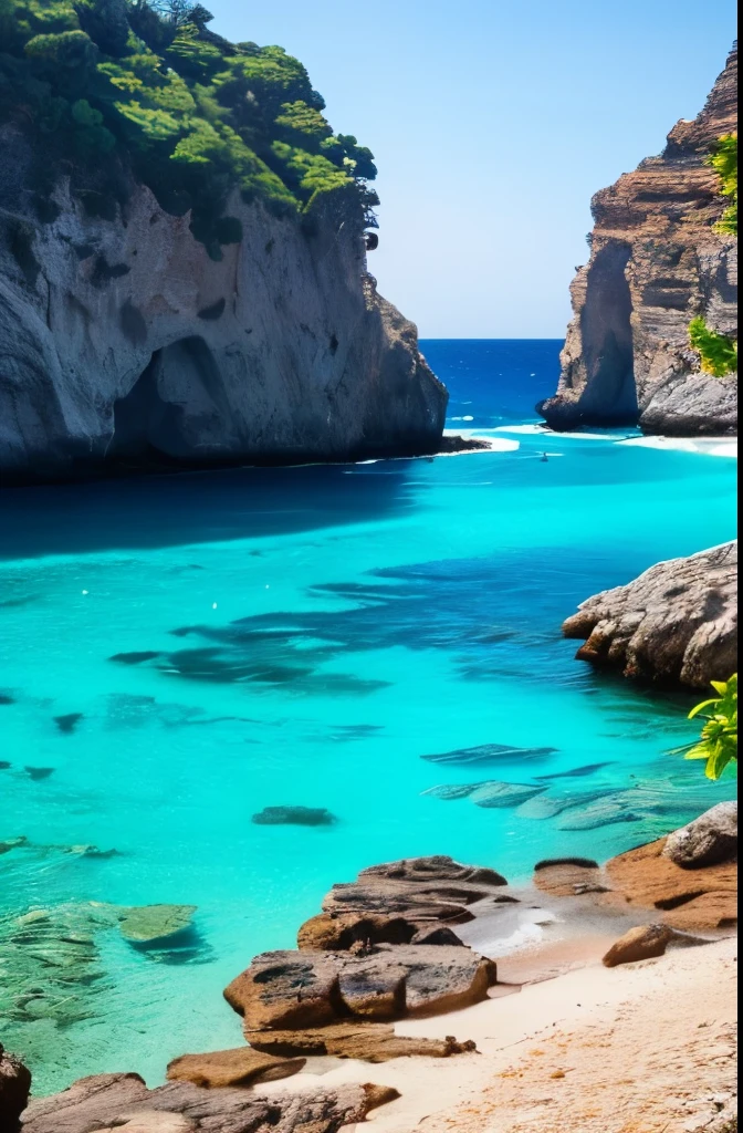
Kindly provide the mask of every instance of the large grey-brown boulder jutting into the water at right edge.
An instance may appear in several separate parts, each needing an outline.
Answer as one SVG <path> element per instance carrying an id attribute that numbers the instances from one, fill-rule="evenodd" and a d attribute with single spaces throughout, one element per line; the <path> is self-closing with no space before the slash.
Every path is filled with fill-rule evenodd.
<path id="1" fill-rule="evenodd" d="M 737 668 L 737 543 L 657 563 L 563 624 L 578 657 L 625 676 L 706 689 Z"/>

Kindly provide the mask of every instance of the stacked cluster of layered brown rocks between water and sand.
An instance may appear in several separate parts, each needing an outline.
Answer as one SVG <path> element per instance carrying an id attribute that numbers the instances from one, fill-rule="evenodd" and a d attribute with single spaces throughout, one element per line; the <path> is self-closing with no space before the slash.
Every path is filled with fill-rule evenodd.
<path id="1" fill-rule="evenodd" d="M 297 951 L 256 956 L 224 997 L 247 1040 L 268 1054 L 381 1062 L 470 1049 L 454 1039 L 396 1040 L 387 1024 L 487 998 L 495 963 L 449 925 L 471 920 L 469 904 L 501 901 L 505 884 L 494 870 L 444 857 L 362 870 L 333 886 L 323 913 L 300 928 Z"/>

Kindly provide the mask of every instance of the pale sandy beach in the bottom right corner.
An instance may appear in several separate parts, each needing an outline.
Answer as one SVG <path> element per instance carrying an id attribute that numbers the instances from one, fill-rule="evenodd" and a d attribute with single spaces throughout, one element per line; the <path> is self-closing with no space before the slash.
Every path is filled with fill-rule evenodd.
<path id="1" fill-rule="evenodd" d="M 605 946 L 601 936 L 586 938 L 580 953 L 547 957 L 563 969 L 555 978 L 501 985 L 486 1003 L 395 1028 L 400 1034 L 473 1039 L 478 1054 L 374 1066 L 310 1059 L 305 1073 L 266 1092 L 306 1089 L 308 1077 L 394 1087 L 401 1097 L 369 1116 L 378 1133 L 736 1128 L 729 1123 L 737 940 L 615 969 L 600 963 Z M 526 954 L 527 966 L 524 956 L 504 961 L 501 979 L 529 978 L 533 960 Z M 565 971 L 571 963 L 581 966 Z"/>

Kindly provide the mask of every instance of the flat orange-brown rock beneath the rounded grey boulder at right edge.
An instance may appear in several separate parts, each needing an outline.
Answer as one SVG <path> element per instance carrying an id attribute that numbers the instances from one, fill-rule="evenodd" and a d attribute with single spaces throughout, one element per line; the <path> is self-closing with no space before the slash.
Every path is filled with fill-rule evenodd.
<path id="1" fill-rule="evenodd" d="M 607 862 L 609 881 L 625 902 L 643 909 L 675 910 L 704 893 L 737 893 L 735 863 L 682 869 L 663 855 L 665 845 L 666 838 L 659 838 Z"/>

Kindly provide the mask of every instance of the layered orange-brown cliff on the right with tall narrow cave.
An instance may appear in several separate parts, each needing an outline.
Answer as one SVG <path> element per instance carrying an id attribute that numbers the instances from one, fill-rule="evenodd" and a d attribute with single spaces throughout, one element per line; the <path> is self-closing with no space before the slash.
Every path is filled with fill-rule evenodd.
<path id="1" fill-rule="evenodd" d="M 688 327 L 702 314 L 736 335 L 736 241 L 715 231 L 726 201 L 706 164 L 716 139 L 737 128 L 736 84 L 734 48 L 704 109 L 674 126 L 661 156 L 593 197 L 591 256 L 571 288 L 557 394 L 538 407 L 553 428 L 735 429 L 735 378 L 700 372 Z"/>

